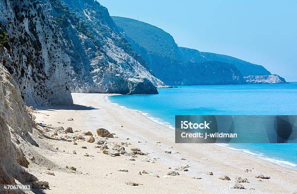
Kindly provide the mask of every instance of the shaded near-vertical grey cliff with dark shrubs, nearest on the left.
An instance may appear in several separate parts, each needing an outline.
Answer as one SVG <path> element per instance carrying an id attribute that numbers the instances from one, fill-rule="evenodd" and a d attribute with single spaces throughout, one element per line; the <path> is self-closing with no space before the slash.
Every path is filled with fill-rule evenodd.
<path id="1" fill-rule="evenodd" d="M 70 59 L 37 0 L 0 0 L 0 61 L 27 104 L 72 104 Z M 5 42 L 5 40 L 2 39 Z"/>

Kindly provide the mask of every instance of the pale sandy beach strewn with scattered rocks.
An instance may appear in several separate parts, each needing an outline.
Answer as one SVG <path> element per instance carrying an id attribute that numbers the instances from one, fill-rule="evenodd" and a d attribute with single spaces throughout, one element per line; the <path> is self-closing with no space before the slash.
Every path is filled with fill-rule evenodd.
<path id="1" fill-rule="evenodd" d="M 108 95 L 72 93 L 73 106 L 34 107 L 38 128 L 48 128 L 49 131 L 34 134 L 39 147 L 31 150 L 36 154 L 34 158 L 29 158 L 27 170 L 39 180 L 48 181 L 50 188 L 35 193 L 297 193 L 296 170 L 214 144 L 175 144 L 174 130 L 136 110 L 109 103 L 105 98 Z M 71 127 L 74 133 L 53 136 L 52 130 L 60 126 L 64 129 Z M 111 157 L 104 154 L 101 145 L 96 143 L 101 139 L 96 133 L 98 128 L 114 134 L 115 138 L 105 139 L 109 149 L 121 145 L 127 151 L 138 148 L 147 155 L 120 154 Z M 90 136 L 83 134 L 87 131 L 93 134 L 94 143 L 87 142 Z M 82 135 L 85 139 L 74 140 L 71 135 Z M 61 137 L 67 141 L 61 140 Z M 66 166 L 73 166 L 76 171 Z M 179 175 L 167 175 L 171 171 Z M 210 172 L 213 175 L 209 175 Z M 231 180 L 222 178 L 225 175 Z M 255 178 L 259 175 L 270 179 Z M 231 189 L 238 177 L 248 180 L 249 183 L 237 183 L 245 189 Z M 139 185 L 132 186 L 127 182 Z"/>

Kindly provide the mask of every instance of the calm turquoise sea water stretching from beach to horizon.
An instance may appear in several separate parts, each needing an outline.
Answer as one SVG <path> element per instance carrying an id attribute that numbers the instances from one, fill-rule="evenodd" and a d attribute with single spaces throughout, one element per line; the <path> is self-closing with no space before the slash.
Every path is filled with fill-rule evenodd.
<path id="1" fill-rule="evenodd" d="M 158 91 L 158 95 L 117 95 L 109 99 L 171 126 L 175 115 L 297 115 L 297 83 L 183 86 Z M 297 144 L 224 146 L 297 168 Z"/>

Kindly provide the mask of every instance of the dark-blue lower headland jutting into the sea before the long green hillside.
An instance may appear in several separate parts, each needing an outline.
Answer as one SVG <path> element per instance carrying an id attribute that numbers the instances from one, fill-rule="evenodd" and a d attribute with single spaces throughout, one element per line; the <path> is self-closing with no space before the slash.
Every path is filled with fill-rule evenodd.
<path id="1" fill-rule="evenodd" d="M 218 61 L 186 62 L 150 55 L 153 73 L 166 85 L 244 84 L 240 71 L 232 64 Z"/>

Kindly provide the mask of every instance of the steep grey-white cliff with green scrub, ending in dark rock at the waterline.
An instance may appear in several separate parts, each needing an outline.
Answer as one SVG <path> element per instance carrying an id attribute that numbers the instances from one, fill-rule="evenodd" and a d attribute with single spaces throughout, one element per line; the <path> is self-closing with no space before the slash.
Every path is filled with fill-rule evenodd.
<path id="1" fill-rule="evenodd" d="M 164 85 L 94 0 L 41 0 L 70 57 L 73 92 L 157 93 Z"/>

